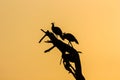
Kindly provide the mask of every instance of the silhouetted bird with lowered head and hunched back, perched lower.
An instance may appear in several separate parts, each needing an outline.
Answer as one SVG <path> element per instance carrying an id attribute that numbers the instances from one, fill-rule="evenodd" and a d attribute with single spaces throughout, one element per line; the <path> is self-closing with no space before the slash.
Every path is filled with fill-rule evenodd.
<path id="1" fill-rule="evenodd" d="M 62 38 L 63 38 L 63 40 L 67 39 L 69 41 L 68 44 L 70 44 L 71 46 L 72 46 L 71 42 L 75 42 L 75 43 L 79 44 L 77 39 L 71 33 L 63 33 Z"/>

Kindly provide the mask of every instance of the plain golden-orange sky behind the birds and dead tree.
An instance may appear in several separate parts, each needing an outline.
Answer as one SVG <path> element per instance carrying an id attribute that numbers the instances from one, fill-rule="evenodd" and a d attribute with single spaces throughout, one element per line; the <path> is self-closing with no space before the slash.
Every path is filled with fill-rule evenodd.
<path id="1" fill-rule="evenodd" d="M 74 80 L 61 53 L 44 50 L 51 22 L 75 35 L 86 80 L 120 80 L 119 0 L 1 0 L 0 80 Z M 45 40 L 47 40 L 46 38 Z"/>

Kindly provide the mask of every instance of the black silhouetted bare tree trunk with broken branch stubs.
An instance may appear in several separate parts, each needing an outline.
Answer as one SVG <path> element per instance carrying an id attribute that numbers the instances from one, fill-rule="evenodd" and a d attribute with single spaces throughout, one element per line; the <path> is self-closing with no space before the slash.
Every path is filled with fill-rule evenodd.
<path id="1" fill-rule="evenodd" d="M 62 53 L 63 65 L 65 70 L 71 73 L 76 80 L 85 80 L 84 76 L 82 75 L 81 62 L 78 54 L 79 52 L 72 46 L 56 38 L 54 33 L 48 30 L 44 31 L 43 29 L 41 29 L 41 31 L 43 31 L 45 35 L 40 39 L 39 43 L 45 38 L 45 36 L 47 36 L 50 40 L 45 42 L 53 44 L 52 47 L 45 50 L 45 53 L 56 47 Z M 73 67 L 71 63 L 74 63 L 75 67 Z"/>

